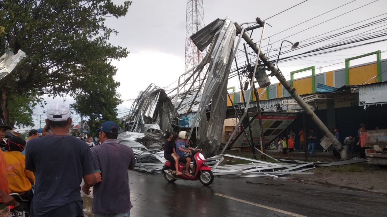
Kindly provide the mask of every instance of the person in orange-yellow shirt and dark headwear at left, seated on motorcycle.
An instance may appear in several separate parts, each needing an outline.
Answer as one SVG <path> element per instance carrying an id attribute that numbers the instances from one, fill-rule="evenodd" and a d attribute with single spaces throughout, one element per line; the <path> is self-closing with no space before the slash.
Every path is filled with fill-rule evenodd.
<path id="1" fill-rule="evenodd" d="M 35 183 L 35 176 L 32 171 L 25 169 L 26 156 L 21 153 L 25 145 L 26 141 L 21 137 L 10 137 L 4 156 L 10 193 L 18 193 L 23 199 L 32 201 L 31 186 Z"/>

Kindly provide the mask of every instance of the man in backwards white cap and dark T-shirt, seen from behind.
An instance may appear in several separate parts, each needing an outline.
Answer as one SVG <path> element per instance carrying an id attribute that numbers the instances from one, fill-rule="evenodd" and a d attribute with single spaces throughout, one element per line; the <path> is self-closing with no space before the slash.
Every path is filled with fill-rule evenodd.
<path id="1" fill-rule="evenodd" d="M 84 216 L 82 178 L 88 185 L 94 185 L 97 178 L 86 142 L 68 134 L 71 122 L 67 105 L 53 104 L 47 109 L 42 132 L 46 135 L 50 129 L 50 134 L 28 142 L 26 169 L 36 172 L 32 217 Z"/>

